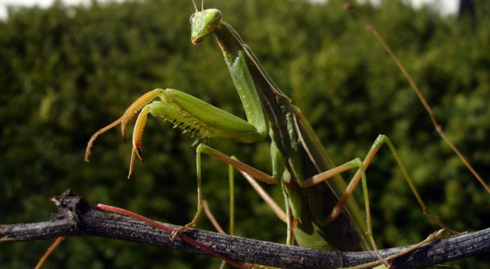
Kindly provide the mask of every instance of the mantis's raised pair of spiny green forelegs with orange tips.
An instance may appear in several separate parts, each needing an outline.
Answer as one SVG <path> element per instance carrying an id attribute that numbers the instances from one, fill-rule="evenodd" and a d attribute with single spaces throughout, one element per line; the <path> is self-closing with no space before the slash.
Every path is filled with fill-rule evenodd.
<path id="1" fill-rule="evenodd" d="M 160 99 L 160 101 L 155 99 Z M 205 103 L 194 96 L 176 89 L 154 89 L 134 101 L 125 110 L 122 117 L 94 133 L 87 145 L 85 160 L 88 160 L 94 140 L 118 124 L 120 124 L 121 136 L 125 140 L 126 126 L 136 114 L 138 115 L 132 133 L 132 153 L 128 177 L 132 175 L 135 159 L 138 158 L 144 162 L 141 154 L 141 141 L 148 114 L 153 115 L 153 117 L 161 117 L 163 121 L 171 122 L 174 124 L 174 128 L 181 129 L 183 133 L 189 133 L 191 137 L 197 136 L 193 145 L 215 136 L 216 138 L 231 139 L 243 143 L 252 143 L 263 139 L 263 134 L 259 133 L 252 124 L 211 106 L 209 103 Z"/>

